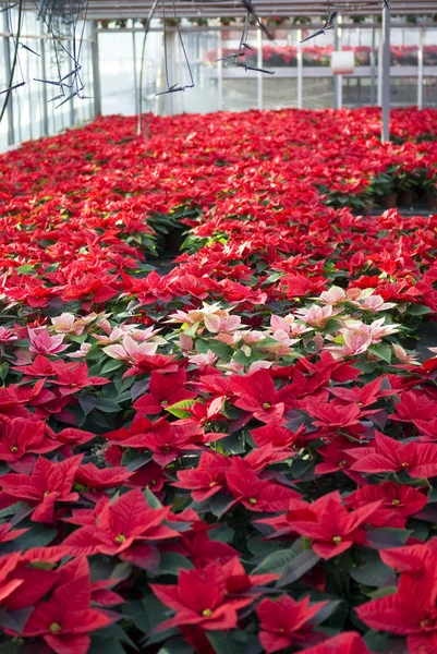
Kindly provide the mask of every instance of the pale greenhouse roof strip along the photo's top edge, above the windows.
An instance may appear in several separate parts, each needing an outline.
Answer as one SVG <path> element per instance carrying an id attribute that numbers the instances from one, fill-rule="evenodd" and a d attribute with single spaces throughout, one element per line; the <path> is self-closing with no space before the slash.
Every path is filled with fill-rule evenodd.
<path id="1" fill-rule="evenodd" d="M 0 0 L 0 3 L 7 0 Z M 163 0 L 166 10 L 171 12 L 172 0 Z M 28 9 L 35 9 L 31 0 Z M 89 0 L 90 19 L 146 17 L 154 0 Z M 342 15 L 377 15 L 381 10 L 381 0 L 340 0 L 338 11 Z M 241 16 L 244 9 L 241 0 L 175 0 L 178 15 L 181 17 Z M 336 0 L 331 1 L 331 9 Z M 158 3 L 160 12 L 161 0 Z M 328 1 L 324 0 L 253 0 L 253 7 L 259 16 L 320 16 L 328 11 Z M 393 15 L 434 14 L 436 0 L 391 0 Z"/>

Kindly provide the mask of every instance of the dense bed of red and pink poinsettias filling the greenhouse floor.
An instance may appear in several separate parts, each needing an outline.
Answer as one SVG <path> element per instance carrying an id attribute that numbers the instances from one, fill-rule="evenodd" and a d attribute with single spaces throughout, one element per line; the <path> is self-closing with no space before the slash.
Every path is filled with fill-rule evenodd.
<path id="1" fill-rule="evenodd" d="M 1 653 L 434 651 L 437 216 L 356 214 L 434 179 L 436 118 L 110 117 L 1 157 Z"/>

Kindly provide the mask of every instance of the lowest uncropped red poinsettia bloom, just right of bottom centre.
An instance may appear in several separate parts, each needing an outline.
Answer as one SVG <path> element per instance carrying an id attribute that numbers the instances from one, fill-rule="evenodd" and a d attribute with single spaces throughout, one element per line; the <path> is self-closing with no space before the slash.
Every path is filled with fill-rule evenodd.
<path id="1" fill-rule="evenodd" d="M 327 602 L 309 605 L 309 597 L 295 602 L 289 595 L 263 600 L 256 609 L 260 621 L 259 640 L 265 651 L 280 652 L 296 644 L 317 642 L 321 634 L 312 633 L 311 621 Z"/>

